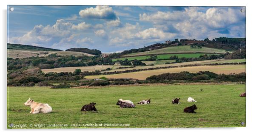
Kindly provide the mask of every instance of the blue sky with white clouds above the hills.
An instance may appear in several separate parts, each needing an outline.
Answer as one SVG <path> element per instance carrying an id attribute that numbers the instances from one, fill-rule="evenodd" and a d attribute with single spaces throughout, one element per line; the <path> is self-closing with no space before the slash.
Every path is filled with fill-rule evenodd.
<path id="1" fill-rule="evenodd" d="M 14 11 L 9 8 L 13 7 Z M 174 39 L 245 37 L 245 7 L 7 6 L 8 43 L 112 53 Z M 241 10 L 242 9 L 242 10 Z"/>

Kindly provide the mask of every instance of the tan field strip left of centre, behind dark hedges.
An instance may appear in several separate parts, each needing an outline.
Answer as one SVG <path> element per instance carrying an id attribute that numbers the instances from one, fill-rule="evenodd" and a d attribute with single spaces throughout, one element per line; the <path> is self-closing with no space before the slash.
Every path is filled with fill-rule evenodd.
<path id="1" fill-rule="evenodd" d="M 43 73 L 48 72 L 74 72 L 76 69 L 81 69 L 81 71 L 95 71 L 95 70 L 104 70 L 107 68 L 120 67 L 118 65 L 97 65 L 97 66 L 88 66 L 88 67 L 60 67 L 60 68 L 52 68 L 52 69 L 42 69 Z"/>

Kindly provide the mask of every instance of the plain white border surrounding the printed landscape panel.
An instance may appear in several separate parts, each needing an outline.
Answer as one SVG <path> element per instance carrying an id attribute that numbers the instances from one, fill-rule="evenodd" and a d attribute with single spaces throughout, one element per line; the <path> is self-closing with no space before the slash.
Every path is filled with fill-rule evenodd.
<path id="1" fill-rule="evenodd" d="M 246 53 L 246 128 L 140 128 L 140 129 L 50 129 L 50 130 L 41 130 L 36 131 L 38 134 L 43 133 L 56 133 L 57 131 L 68 134 L 71 131 L 77 133 L 145 133 L 153 134 L 157 133 L 196 133 L 196 134 L 205 134 L 208 132 L 210 134 L 216 133 L 237 133 L 245 134 L 246 132 L 253 131 L 255 126 L 255 99 L 253 98 L 256 92 L 254 86 L 255 83 L 255 50 L 256 50 L 256 41 L 255 41 L 255 5 L 253 0 L 1 0 L 1 61 L 2 61 L 2 77 L 1 78 L 1 121 L 0 121 L 0 131 L 8 133 L 19 133 L 19 134 L 28 134 L 32 133 L 33 130 L 6 130 L 6 5 L 127 5 L 127 6 L 246 6 L 246 42 L 247 42 L 247 53 Z M 225 98 L 223 98 L 225 101 Z"/>

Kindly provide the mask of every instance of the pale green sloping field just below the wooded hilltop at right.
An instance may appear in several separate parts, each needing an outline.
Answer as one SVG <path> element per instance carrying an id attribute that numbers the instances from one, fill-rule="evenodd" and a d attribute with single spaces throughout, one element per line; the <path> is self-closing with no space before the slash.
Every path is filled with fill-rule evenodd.
<path id="1" fill-rule="evenodd" d="M 163 53 L 226 53 L 226 50 L 216 49 L 216 48 L 191 48 L 190 45 L 186 46 L 177 46 L 177 47 L 166 47 L 151 51 L 139 52 L 139 53 L 130 53 L 123 56 L 140 56 L 148 54 L 163 54 Z"/>

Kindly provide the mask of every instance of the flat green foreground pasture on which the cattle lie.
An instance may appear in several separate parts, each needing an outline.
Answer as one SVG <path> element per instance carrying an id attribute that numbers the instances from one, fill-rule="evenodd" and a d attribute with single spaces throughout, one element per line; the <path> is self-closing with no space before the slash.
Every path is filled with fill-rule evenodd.
<path id="1" fill-rule="evenodd" d="M 245 92 L 244 84 L 118 86 L 98 89 L 9 87 L 7 127 L 10 128 L 10 123 L 32 126 L 67 124 L 65 128 L 91 128 L 82 126 L 88 123 L 128 123 L 129 128 L 245 127 L 241 125 L 241 122 L 245 122 L 245 98 L 239 97 L 242 92 Z M 23 106 L 29 97 L 36 102 L 48 103 L 53 112 L 29 114 L 30 107 Z M 187 102 L 188 97 L 193 97 L 197 102 Z M 119 98 L 134 103 L 151 98 L 151 104 L 136 104 L 135 108 L 120 109 L 116 105 Z M 181 98 L 181 103 L 171 104 L 173 98 Z M 89 102 L 97 103 L 98 113 L 80 112 L 81 107 Z M 183 113 L 185 107 L 193 104 L 198 108 L 196 114 Z M 71 123 L 78 123 L 81 127 L 70 127 Z M 29 125 L 27 128 L 30 128 Z"/>

